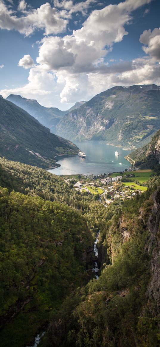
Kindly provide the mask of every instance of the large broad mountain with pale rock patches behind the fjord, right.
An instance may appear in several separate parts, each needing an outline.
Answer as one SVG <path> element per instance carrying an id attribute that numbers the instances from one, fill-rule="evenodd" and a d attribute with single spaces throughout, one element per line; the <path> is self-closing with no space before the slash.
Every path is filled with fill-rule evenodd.
<path id="1" fill-rule="evenodd" d="M 56 128 L 71 140 L 140 147 L 160 128 L 160 87 L 113 87 L 69 112 Z"/>

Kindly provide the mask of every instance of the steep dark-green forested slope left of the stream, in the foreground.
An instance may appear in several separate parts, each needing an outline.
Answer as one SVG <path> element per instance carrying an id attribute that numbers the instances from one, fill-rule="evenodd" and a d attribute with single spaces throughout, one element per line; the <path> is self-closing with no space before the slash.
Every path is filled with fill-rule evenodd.
<path id="1" fill-rule="evenodd" d="M 1 347 L 28 346 L 51 309 L 86 283 L 83 254 L 93 252 L 93 238 L 65 204 L 0 187 L 0 211 Z"/>

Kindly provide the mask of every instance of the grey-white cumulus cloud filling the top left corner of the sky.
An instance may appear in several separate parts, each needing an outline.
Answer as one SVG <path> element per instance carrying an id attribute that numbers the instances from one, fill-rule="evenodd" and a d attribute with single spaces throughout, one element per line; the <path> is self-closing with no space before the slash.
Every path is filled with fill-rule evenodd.
<path id="1" fill-rule="evenodd" d="M 52 8 L 49 2 L 40 8 L 25 11 L 25 15 L 17 17 L 3 0 L 0 0 L 1 29 L 15 29 L 25 36 L 33 34 L 35 29 L 43 29 L 44 34 L 49 35 L 65 31 L 67 23 L 68 20 L 62 18 L 62 14 L 56 8 Z"/>

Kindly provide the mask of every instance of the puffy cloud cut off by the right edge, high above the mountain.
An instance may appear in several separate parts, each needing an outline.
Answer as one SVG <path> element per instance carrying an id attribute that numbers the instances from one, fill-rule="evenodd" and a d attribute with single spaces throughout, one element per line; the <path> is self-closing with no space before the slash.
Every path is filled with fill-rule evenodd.
<path id="1" fill-rule="evenodd" d="M 160 28 L 155 28 L 152 32 L 151 29 L 144 30 L 140 36 L 140 42 L 147 45 L 142 47 L 146 54 L 160 61 Z"/>

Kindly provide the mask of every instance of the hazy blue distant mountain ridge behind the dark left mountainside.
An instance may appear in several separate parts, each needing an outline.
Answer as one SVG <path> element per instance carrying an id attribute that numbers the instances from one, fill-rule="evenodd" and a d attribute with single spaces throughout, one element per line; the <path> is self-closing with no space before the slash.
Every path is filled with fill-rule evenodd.
<path id="1" fill-rule="evenodd" d="M 6 100 L 27 111 L 31 116 L 39 120 L 41 124 L 50 128 L 52 133 L 56 132 L 56 124 L 65 115 L 65 111 L 61 111 L 56 107 L 44 107 L 36 100 L 26 99 L 20 95 L 10 94 Z"/>

